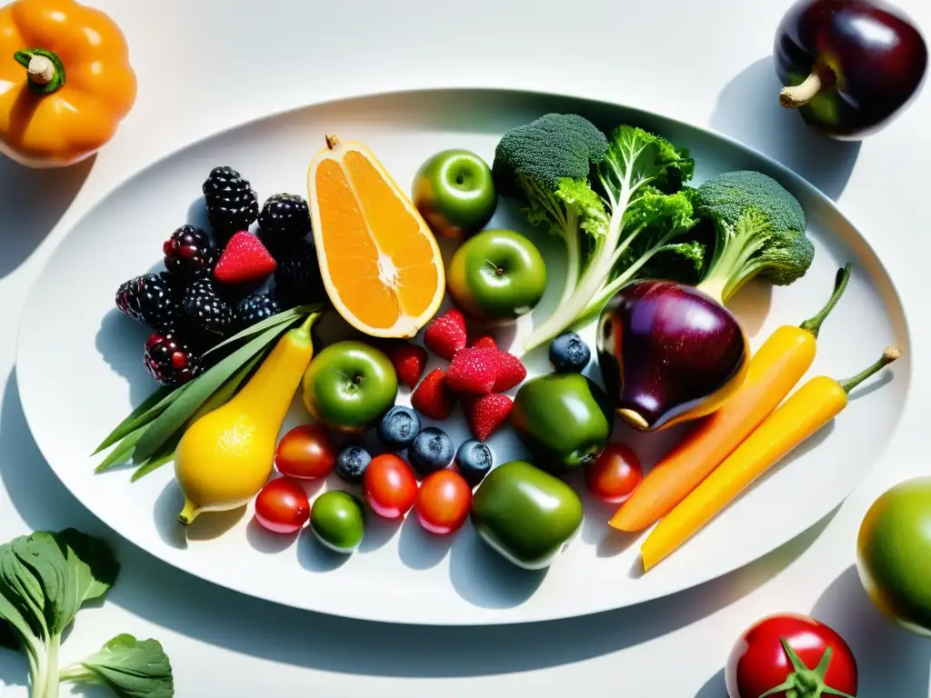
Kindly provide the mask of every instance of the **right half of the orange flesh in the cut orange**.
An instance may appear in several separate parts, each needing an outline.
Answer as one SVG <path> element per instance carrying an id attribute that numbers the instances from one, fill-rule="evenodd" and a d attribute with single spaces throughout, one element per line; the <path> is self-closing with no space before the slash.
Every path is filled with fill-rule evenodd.
<path id="1" fill-rule="evenodd" d="M 406 315 L 423 315 L 436 296 L 439 270 L 434 263 L 433 247 L 420 221 L 363 154 L 347 152 L 344 166 L 352 179 L 377 248 L 394 263 L 393 271 L 397 277 L 390 289 L 392 295 L 397 296 L 398 304 Z M 382 285 L 377 279 L 377 271 L 376 282 Z"/>

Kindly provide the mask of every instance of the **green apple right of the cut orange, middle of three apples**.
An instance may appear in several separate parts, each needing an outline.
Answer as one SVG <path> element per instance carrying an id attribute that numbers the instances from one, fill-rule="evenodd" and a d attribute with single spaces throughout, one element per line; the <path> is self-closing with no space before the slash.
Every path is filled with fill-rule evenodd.
<path id="1" fill-rule="evenodd" d="M 530 313 L 546 293 L 540 250 L 511 230 L 473 235 L 452 255 L 446 275 L 452 302 L 481 322 L 503 325 Z"/>

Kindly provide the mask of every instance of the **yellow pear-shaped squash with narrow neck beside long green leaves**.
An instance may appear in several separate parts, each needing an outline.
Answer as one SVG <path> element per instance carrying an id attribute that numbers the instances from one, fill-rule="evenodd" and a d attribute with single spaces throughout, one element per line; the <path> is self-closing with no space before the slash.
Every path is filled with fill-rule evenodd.
<path id="1" fill-rule="evenodd" d="M 272 474 L 278 432 L 314 355 L 310 315 L 291 329 L 233 399 L 184 432 L 175 450 L 175 478 L 184 494 L 178 520 L 249 503 Z"/>

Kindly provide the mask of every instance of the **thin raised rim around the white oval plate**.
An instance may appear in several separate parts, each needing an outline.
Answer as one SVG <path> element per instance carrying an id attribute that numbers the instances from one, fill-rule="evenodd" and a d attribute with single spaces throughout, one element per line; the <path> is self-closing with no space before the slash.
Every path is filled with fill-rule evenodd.
<path id="1" fill-rule="evenodd" d="M 239 130 L 239 129 L 253 128 L 255 126 L 262 124 L 263 122 L 273 121 L 273 120 L 280 119 L 280 118 L 287 118 L 291 115 L 298 114 L 300 112 L 303 112 L 309 109 L 326 108 L 328 106 L 348 105 L 348 104 L 351 104 L 352 102 L 360 102 L 360 101 L 370 101 L 370 100 L 376 101 L 379 99 L 414 99 L 417 97 L 424 98 L 429 95 L 443 95 L 443 94 L 450 94 L 450 93 L 456 93 L 459 95 L 468 94 L 468 93 L 484 94 L 488 96 L 494 96 L 498 100 L 502 98 L 506 98 L 507 96 L 515 96 L 515 97 L 518 97 L 524 100 L 546 101 L 548 99 L 548 100 L 570 100 L 570 101 L 584 102 L 590 105 L 591 107 L 622 109 L 626 111 L 628 114 L 633 115 L 632 120 L 636 120 L 637 118 L 654 117 L 654 118 L 659 118 L 661 120 L 664 120 L 677 127 L 695 129 L 697 131 L 713 136 L 715 140 L 724 142 L 728 146 L 734 148 L 736 151 L 739 151 L 743 154 L 748 154 L 749 156 L 752 156 L 754 158 L 758 158 L 759 160 L 764 162 L 767 165 L 767 167 L 772 168 L 774 171 L 776 171 L 778 173 L 778 176 L 782 178 L 782 181 L 784 184 L 790 183 L 792 186 L 802 187 L 803 189 L 806 190 L 808 194 L 816 196 L 821 206 L 827 206 L 830 210 L 832 210 L 834 213 L 836 213 L 836 215 L 840 217 L 840 220 L 843 221 L 844 224 L 850 226 L 850 228 L 857 231 L 857 235 L 858 235 L 860 243 L 864 245 L 865 248 L 870 253 L 870 255 L 877 262 L 879 262 L 884 272 L 885 280 L 888 282 L 887 292 L 891 294 L 892 299 L 895 302 L 897 302 L 898 307 L 901 309 L 903 324 L 899 330 L 902 332 L 902 335 L 903 335 L 902 345 L 903 345 L 903 349 L 906 354 L 904 358 L 907 359 L 906 378 L 908 379 L 908 382 L 903 387 L 902 404 L 899 408 L 900 418 L 896 423 L 894 431 L 888 437 L 884 450 L 881 452 L 880 460 L 873 465 L 873 468 L 870 471 L 868 471 L 866 475 L 861 477 L 854 484 L 851 490 L 848 491 L 843 496 L 843 499 L 841 500 L 841 502 L 838 503 L 836 506 L 832 507 L 829 511 L 825 512 L 823 516 L 818 517 L 816 521 L 813 521 L 810 524 L 806 525 L 802 530 L 798 530 L 795 533 L 793 533 L 782 544 L 776 545 L 776 547 L 771 548 L 769 550 L 763 550 L 762 552 L 755 552 L 752 549 L 750 549 L 749 553 L 745 556 L 741 556 L 740 557 L 741 561 L 735 564 L 734 566 L 732 566 L 729 570 L 725 570 L 725 571 L 711 570 L 709 572 L 697 573 L 694 576 L 690 576 L 686 584 L 676 584 L 674 588 L 672 588 L 666 594 L 663 594 L 662 596 L 659 596 L 659 597 L 643 598 L 643 599 L 634 600 L 632 602 L 623 602 L 622 600 L 620 604 L 608 603 L 608 604 L 593 607 L 587 611 L 581 611 L 581 612 L 580 611 L 539 612 L 538 610 L 534 610 L 533 616 L 526 617 L 526 618 L 514 617 L 510 614 L 503 614 L 503 613 L 483 613 L 481 614 L 481 620 L 469 620 L 468 618 L 463 618 L 462 621 L 454 621 L 454 620 L 450 620 L 447 618 L 447 619 L 443 619 L 440 621 L 430 621 L 429 619 L 421 619 L 421 618 L 417 618 L 417 619 L 405 618 L 403 614 L 397 615 L 397 614 L 392 614 L 390 612 L 383 613 L 379 617 L 372 617 L 371 614 L 366 614 L 366 613 L 355 613 L 352 611 L 344 611 L 344 610 L 331 611 L 331 610 L 328 610 L 325 607 L 325 605 L 317 606 L 317 605 L 305 604 L 305 603 L 295 604 L 295 603 L 288 602 L 288 601 L 285 601 L 279 598 L 263 597 L 252 591 L 244 590 L 242 588 L 232 586 L 228 582 L 222 581 L 222 579 L 220 579 L 222 575 L 211 575 L 204 570 L 191 570 L 185 567 L 181 567 L 175 564 L 174 561 L 170 560 L 169 557 L 162 555 L 159 551 L 150 550 L 147 547 L 144 547 L 142 544 L 139 544 L 136 541 L 134 541 L 127 534 L 120 532 L 113 524 L 111 524 L 107 520 L 107 518 L 101 516 L 101 514 L 99 514 L 94 509 L 92 509 L 88 505 L 88 503 L 86 503 L 85 498 L 80 496 L 74 490 L 72 490 L 68 486 L 68 484 L 64 481 L 64 479 L 62 479 L 62 477 L 59 475 L 58 470 L 52 467 L 51 462 L 47 458 L 46 451 L 43 449 L 43 446 L 39 444 L 37 439 L 35 439 L 36 448 L 42 454 L 43 460 L 45 460 L 48 468 L 55 474 L 55 477 L 59 479 L 62 486 L 64 486 L 64 488 L 68 490 L 68 492 L 79 503 L 81 503 L 81 505 L 85 509 L 88 510 L 91 516 L 99 520 L 104 526 L 106 526 L 107 529 L 112 530 L 115 533 L 115 535 L 127 541 L 129 544 L 132 544 L 135 547 L 139 548 L 147 555 L 155 557 L 155 559 L 159 560 L 160 562 L 167 564 L 172 568 L 182 570 L 186 574 L 190 574 L 209 584 L 216 584 L 217 586 L 220 586 L 224 589 L 229 589 L 230 591 L 233 591 L 237 594 L 243 594 L 248 597 L 255 597 L 265 602 L 274 603 L 280 606 L 285 606 L 287 608 L 297 609 L 301 611 L 323 613 L 326 615 L 337 616 L 341 618 L 348 618 L 348 619 L 358 620 L 358 621 L 366 621 L 366 622 L 371 622 L 371 623 L 389 623 L 389 624 L 423 625 L 423 626 L 481 626 L 481 625 L 546 623 L 546 622 L 564 620 L 564 619 L 574 618 L 574 617 L 585 617 L 588 615 L 595 615 L 595 614 L 608 612 L 608 611 L 620 611 L 621 609 L 630 608 L 630 607 L 641 605 L 643 603 L 649 603 L 651 601 L 656 601 L 661 598 L 681 594 L 682 592 L 688 589 L 692 589 L 700 585 L 708 584 L 709 582 L 715 579 L 721 579 L 723 577 L 726 577 L 728 575 L 735 573 L 738 570 L 743 570 L 744 568 L 748 567 L 750 564 L 758 562 L 762 560 L 762 558 L 764 557 L 769 557 L 770 555 L 776 553 L 776 551 L 782 549 L 786 545 L 793 543 L 800 536 L 802 536 L 803 533 L 815 528 L 818 524 L 820 524 L 826 518 L 831 517 L 833 514 L 835 514 L 837 510 L 846 501 L 846 499 L 850 496 L 850 494 L 853 491 L 857 490 L 859 485 L 862 484 L 863 479 L 865 479 L 866 477 L 869 477 L 870 473 L 875 471 L 876 466 L 886 457 L 886 454 L 888 453 L 888 451 L 891 450 L 893 445 L 897 442 L 897 438 L 900 432 L 900 426 L 901 426 L 901 423 L 903 422 L 902 417 L 904 417 L 904 415 L 909 411 L 909 408 L 911 405 L 911 399 L 914 393 L 914 390 L 913 390 L 914 386 L 912 384 L 914 381 L 913 362 L 911 361 L 911 351 L 909 351 L 909 349 L 912 346 L 911 318 L 910 318 L 910 313 L 909 313 L 909 306 L 905 302 L 903 302 L 903 296 L 897 284 L 896 277 L 889 273 L 887 265 L 885 264 L 882 257 L 878 254 L 876 248 L 870 241 L 870 237 L 860 231 L 857 225 L 855 225 L 854 222 L 851 221 L 851 219 L 846 215 L 846 213 L 844 213 L 843 209 L 840 208 L 838 204 L 833 199 L 830 198 L 830 196 L 824 194 L 814 183 L 806 180 L 805 178 L 803 178 L 802 175 L 798 174 L 797 172 L 790 169 L 789 167 L 783 165 L 781 162 L 771 157 L 770 155 L 764 154 L 761 151 L 757 150 L 756 148 L 753 148 L 752 146 L 749 146 L 748 144 L 742 141 L 737 141 L 731 136 L 723 134 L 716 128 L 700 126 L 691 121 L 686 121 L 686 120 L 683 120 L 677 117 L 668 116 L 666 114 L 661 114 L 661 113 L 650 111 L 647 109 L 642 109 L 636 106 L 631 106 L 630 104 L 627 104 L 626 102 L 623 102 L 623 101 L 598 99 L 598 98 L 593 98 L 587 95 L 574 94 L 568 91 L 525 89 L 525 88 L 519 88 L 519 87 L 479 87 L 479 86 L 467 86 L 467 85 L 453 86 L 453 87 L 404 87 L 404 88 L 399 88 L 399 89 L 384 89 L 384 90 L 376 90 L 376 91 L 371 91 L 371 92 L 347 94 L 344 96 L 335 96 L 335 97 L 331 97 L 329 99 L 320 100 L 320 101 L 307 101 L 302 104 L 292 106 L 289 108 L 280 109 L 277 111 L 269 112 L 267 114 L 254 116 L 249 119 L 240 121 L 236 124 L 230 125 L 228 127 L 219 128 L 219 129 L 210 131 L 209 133 L 206 133 L 202 136 L 196 137 L 194 139 L 184 141 L 180 145 L 167 151 L 165 154 L 162 154 L 161 156 L 156 157 L 154 160 L 151 160 L 143 164 L 139 168 L 133 169 L 126 176 L 119 178 L 117 181 L 114 182 L 114 184 L 111 187 L 103 190 L 100 195 L 95 196 L 94 199 L 88 203 L 87 208 L 82 212 L 82 214 L 71 225 L 68 226 L 67 230 L 62 235 L 59 236 L 59 239 L 56 241 L 53 248 L 51 248 L 51 250 L 49 251 L 47 259 L 45 260 L 45 262 L 43 262 L 41 268 L 38 270 L 37 274 L 34 276 L 33 281 L 29 285 L 29 289 L 26 293 L 25 302 L 23 303 L 23 306 L 22 306 L 22 312 L 20 313 L 20 320 L 17 326 L 17 340 L 16 340 L 16 351 L 15 351 L 15 356 L 14 356 L 13 370 L 15 373 L 14 380 L 16 380 L 18 383 L 17 387 L 18 387 L 18 393 L 20 396 L 20 407 L 22 408 L 23 416 L 25 418 L 25 422 L 27 426 L 30 429 L 31 435 L 33 434 L 33 431 L 34 431 L 33 430 L 33 419 L 31 418 L 31 414 L 34 414 L 35 411 L 34 411 L 34 408 L 30 409 L 28 407 L 28 404 L 30 404 L 30 401 L 28 399 L 24 399 L 23 391 L 21 390 L 21 381 L 20 381 L 20 354 L 23 350 L 23 340 L 22 340 L 23 331 L 22 330 L 27 323 L 27 316 L 30 315 L 30 311 L 35 302 L 34 299 L 37 296 L 36 289 L 41 279 L 45 276 L 47 267 L 53 262 L 53 258 L 57 254 L 59 248 L 64 243 L 64 241 L 68 239 L 68 237 L 74 233 L 74 230 L 77 229 L 88 218 L 88 216 L 90 216 L 96 210 L 96 208 L 98 208 L 101 205 L 101 202 L 115 195 L 116 192 L 118 192 L 121 188 L 123 188 L 124 186 L 127 186 L 129 182 L 134 181 L 144 176 L 150 170 L 160 167 L 162 164 L 169 161 L 173 157 L 179 154 L 182 154 L 184 151 L 190 148 L 195 147 L 197 144 L 203 143 L 205 141 L 210 141 L 213 139 L 221 139 L 223 138 L 223 136 L 229 135 L 230 133 L 236 130 Z M 311 596 L 311 599 L 312 598 L 313 597 Z"/>

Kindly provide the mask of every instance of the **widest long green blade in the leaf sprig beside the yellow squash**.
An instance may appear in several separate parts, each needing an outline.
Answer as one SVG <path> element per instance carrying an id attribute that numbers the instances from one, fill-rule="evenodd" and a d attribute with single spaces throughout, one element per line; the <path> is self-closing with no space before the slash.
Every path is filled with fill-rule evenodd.
<path id="1" fill-rule="evenodd" d="M 149 428 L 145 430 L 145 434 L 136 443 L 133 457 L 141 461 L 151 458 L 155 451 L 172 434 L 178 431 L 183 423 L 191 418 L 191 415 L 204 404 L 209 396 L 213 395 L 252 356 L 255 356 L 270 342 L 274 342 L 278 336 L 288 329 L 289 325 L 290 323 L 283 322 L 266 329 L 258 337 L 236 349 L 233 354 L 226 356 L 223 361 L 206 373 L 201 373 L 194 381 L 187 383 L 189 387 L 184 391 L 184 394 L 175 400 L 169 409 L 162 412 L 155 419 L 155 422 L 151 423 Z"/>

